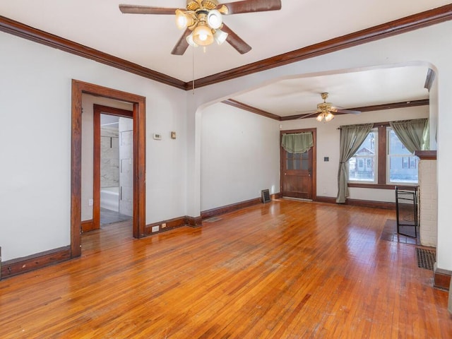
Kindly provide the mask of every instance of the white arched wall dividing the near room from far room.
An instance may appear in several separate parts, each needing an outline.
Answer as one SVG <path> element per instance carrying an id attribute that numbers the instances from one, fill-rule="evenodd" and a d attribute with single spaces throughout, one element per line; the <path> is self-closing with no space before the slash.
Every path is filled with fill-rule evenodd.
<path id="1" fill-rule="evenodd" d="M 438 247 L 436 249 L 437 266 L 452 270 L 452 227 L 448 210 L 450 209 L 450 191 L 452 180 L 452 44 L 450 32 L 452 22 L 439 23 L 412 32 L 394 35 L 355 47 L 340 50 L 320 57 L 298 61 L 275 69 L 253 73 L 230 81 L 199 88 L 188 98 L 187 109 L 190 126 L 187 142 L 187 210 L 195 215 L 201 210 L 201 189 L 198 182 L 201 177 L 201 121 L 203 105 L 225 100 L 255 88 L 264 83 L 285 76 L 363 69 L 369 67 L 408 64 L 410 62 L 427 62 L 433 65 L 438 76 Z M 320 153 L 322 155 L 322 153 Z M 322 188 L 320 188 L 322 192 Z M 321 193 L 320 193 L 321 194 Z"/>

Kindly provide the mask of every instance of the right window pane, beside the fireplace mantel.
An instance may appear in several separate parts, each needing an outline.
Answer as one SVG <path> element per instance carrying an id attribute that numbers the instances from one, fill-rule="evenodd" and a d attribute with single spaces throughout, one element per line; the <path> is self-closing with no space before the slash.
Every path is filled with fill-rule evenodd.
<path id="1" fill-rule="evenodd" d="M 388 145 L 388 184 L 417 184 L 418 157 L 410 153 L 400 142 L 391 127 L 386 128 L 386 142 Z"/>

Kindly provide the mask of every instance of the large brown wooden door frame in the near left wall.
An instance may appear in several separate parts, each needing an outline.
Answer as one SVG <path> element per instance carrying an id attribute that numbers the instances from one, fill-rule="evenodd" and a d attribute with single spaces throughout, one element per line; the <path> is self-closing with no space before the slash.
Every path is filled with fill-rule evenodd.
<path id="1" fill-rule="evenodd" d="M 133 237 L 145 230 L 145 97 L 72 80 L 71 107 L 71 258 L 81 256 L 82 95 L 133 104 Z"/>

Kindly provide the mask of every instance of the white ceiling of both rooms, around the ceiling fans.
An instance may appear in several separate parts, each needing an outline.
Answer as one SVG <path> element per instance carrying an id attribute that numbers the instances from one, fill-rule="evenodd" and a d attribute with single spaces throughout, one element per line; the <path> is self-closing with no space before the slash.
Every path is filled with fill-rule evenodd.
<path id="1" fill-rule="evenodd" d="M 280 11 L 225 16 L 225 23 L 252 47 L 243 55 L 226 42 L 210 45 L 206 52 L 201 47 L 189 47 L 183 56 L 174 56 L 172 48 L 182 35 L 174 16 L 122 14 L 118 8 L 119 4 L 184 8 L 185 0 L 0 1 L 0 14 L 167 76 L 191 81 L 448 2 L 282 0 Z M 328 101 L 345 108 L 401 102 L 428 97 L 423 88 L 426 75 L 425 66 L 312 78 L 295 75 L 234 99 L 282 116 L 315 109 L 321 102 L 321 92 L 331 93 Z"/>

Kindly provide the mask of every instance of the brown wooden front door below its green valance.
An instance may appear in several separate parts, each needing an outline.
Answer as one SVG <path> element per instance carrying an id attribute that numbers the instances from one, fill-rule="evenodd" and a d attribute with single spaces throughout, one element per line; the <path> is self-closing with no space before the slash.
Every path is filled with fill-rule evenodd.
<path id="1" fill-rule="evenodd" d="M 281 148 L 283 196 L 312 199 L 312 153 L 310 148 L 302 154 L 289 153 Z"/>

